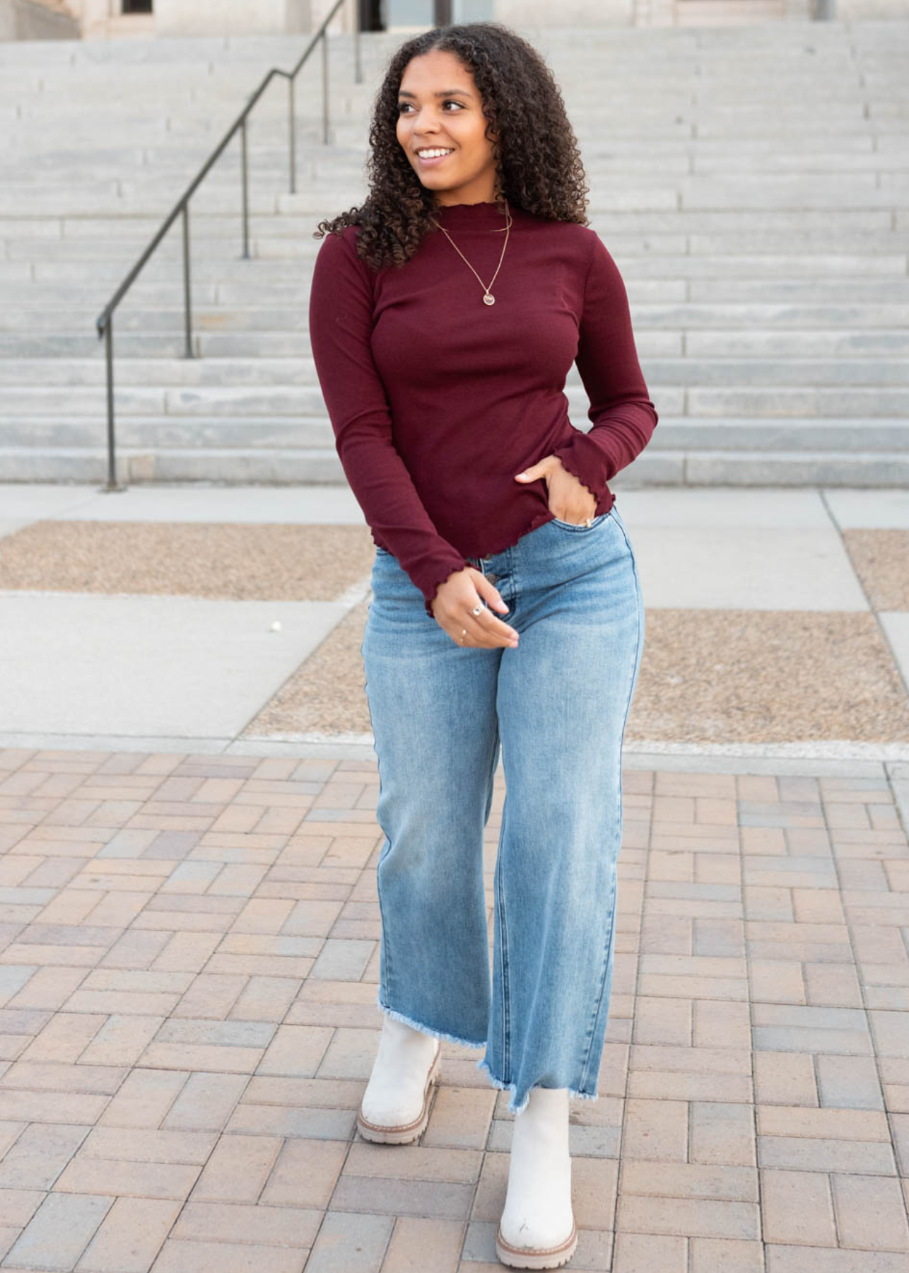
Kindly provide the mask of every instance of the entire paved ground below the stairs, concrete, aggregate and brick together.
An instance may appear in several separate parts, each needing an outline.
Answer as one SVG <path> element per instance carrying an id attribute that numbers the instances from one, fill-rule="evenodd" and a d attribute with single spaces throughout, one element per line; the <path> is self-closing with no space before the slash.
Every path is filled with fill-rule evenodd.
<path id="1" fill-rule="evenodd" d="M 568 1267 L 906 1273 L 909 494 L 619 500 L 648 630 Z M 0 516 L 0 1269 L 500 1269 L 481 1053 L 443 1044 L 414 1146 L 355 1134 L 353 496 L 13 485 Z"/>

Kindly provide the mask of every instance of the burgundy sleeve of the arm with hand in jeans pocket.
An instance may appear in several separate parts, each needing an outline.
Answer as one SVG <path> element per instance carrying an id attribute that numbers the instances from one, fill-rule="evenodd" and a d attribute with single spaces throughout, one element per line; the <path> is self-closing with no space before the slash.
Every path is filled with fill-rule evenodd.
<path id="1" fill-rule="evenodd" d="M 602 239 L 596 232 L 592 238 L 575 358 L 592 428 L 553 453 L 600 503 L 609 480 L 651 440 L 658 415 L 638 362 L 625 284 Z"/>

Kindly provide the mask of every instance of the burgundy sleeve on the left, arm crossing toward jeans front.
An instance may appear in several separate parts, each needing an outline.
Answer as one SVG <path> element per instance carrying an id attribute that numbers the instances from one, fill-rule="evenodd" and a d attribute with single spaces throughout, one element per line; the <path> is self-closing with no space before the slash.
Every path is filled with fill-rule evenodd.
<path id="1" fill-rule="evenodd" d="M 309 293 L 309 342 L 341 467 L 383 547 L 395 554 L 425 600 L 470 563 L 433 526 L 395 447 L 384 384 L 370 335 L 369 267 L 353 234 L 328 233 L 316 256 Z"/>

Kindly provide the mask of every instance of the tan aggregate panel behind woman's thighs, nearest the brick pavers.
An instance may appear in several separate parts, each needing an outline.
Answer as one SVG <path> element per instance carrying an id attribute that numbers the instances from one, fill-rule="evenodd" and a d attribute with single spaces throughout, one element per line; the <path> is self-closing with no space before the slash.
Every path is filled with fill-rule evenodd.
<path id="1" fill-rule="evenodd" d="M 356 606 L 246 733 L 367 733 Z M 629 742 L 904 742 L 909 700 L 873 615 L 651 610 Z"/>

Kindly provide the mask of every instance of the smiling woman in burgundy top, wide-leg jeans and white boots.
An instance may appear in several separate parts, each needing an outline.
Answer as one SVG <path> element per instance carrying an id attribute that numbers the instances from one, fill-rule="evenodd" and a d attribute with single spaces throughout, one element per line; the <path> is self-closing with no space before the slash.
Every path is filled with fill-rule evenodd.
<path id="1" fill-rule="evenodd" d="M 369 195 L 320 223 L 309 334 L 377 546 L 362 656 L 386 839 L 382 1035 L 358 1127 L 421 1134 L 440 1040 L 511 1092 L 497 1235 L 556 1268 L 577 1231 L 568 1097 L 597 1099 L 621 743 L 644 615 L 607 482 L 657 423 L 625 288 L 540 55 L 499 23 L 391 57 Z M 563 393 L 572 362 L 588 433 Z M 491 985 L 483 831 L 502 751 Z"/>

